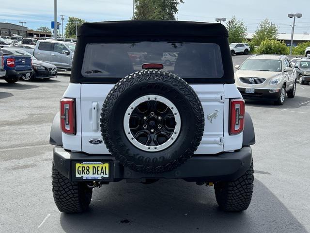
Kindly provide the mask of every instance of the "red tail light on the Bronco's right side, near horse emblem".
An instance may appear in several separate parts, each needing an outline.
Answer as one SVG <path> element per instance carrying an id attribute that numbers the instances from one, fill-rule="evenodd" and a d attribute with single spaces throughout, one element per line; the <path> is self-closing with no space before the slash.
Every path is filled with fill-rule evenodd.
<path id="1" fill-rule="evenodd" d="M 245 102 L 244 100 L 231 100 L 230 103 L 230 127 L 229 134 L 239 134 L 244 129 L 244 113 Z"/>

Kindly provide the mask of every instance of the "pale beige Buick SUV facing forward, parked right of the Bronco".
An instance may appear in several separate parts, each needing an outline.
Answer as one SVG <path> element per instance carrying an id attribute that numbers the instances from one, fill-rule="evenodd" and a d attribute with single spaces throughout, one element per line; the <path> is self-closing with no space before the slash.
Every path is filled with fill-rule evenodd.
<path id="1" fill-rule="evenodd" d="M 235 66 L 235 82 L 244 99 L 272 100 L 282 105 L 294 98 L 296 69 L 285 55 L 253 55 Z"/>

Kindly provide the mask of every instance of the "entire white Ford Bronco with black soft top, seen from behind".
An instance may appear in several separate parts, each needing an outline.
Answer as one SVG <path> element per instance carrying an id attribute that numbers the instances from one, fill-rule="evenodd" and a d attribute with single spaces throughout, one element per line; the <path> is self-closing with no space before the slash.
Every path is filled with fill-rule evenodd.
<path id="1" fill-rule="evenodd" d="M 165 63 L 166 53 L 175 62 Z M 221 209 L 246 210 L 255 135 L 234 84 L 225 27 L 84 23 L 50 144 L 62 212 L 85 211 L 95 187 L 159 179 L 214 185 Z"/>

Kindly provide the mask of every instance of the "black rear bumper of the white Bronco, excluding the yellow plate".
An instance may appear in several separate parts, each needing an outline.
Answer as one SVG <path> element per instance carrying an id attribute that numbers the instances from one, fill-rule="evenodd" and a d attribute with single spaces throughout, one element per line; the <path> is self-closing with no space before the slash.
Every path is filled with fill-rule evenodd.
<path id="1" fill-rule="evenodd" d="M 92 181 L 79 180 L 75 178 L 75 162 L 109 162 L 109 179 L 96 180 L 103 182 L 118 182 L 143 179 L 184 179 L 186 181 L 231 181 L 242 176 L 250 167 L 252 162 L 252 150 L 244 147 L 235 152 L 225 152 L 218 155 L 195 155 L 185 164 L 170 172 L 160 174 L 144 174 L 135 172 L 121 165 L 110 155 L 88 155 L 83 152 L 71 152 L 56 146 L 53 151 L 54 166 L 70 181 Z"/>

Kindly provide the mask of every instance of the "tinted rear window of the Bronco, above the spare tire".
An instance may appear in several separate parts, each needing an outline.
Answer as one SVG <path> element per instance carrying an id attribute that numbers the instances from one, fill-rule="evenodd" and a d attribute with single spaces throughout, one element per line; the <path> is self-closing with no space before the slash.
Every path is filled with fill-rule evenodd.
<path id="1" fill-rule="evenodd" d="M 182 78 L 221 78 L 220 48 L 213 43 L 136 42 L 87 44 L 84 77 L 123 78 L 144 63 L 161 63 L 164 71 Z"/>

